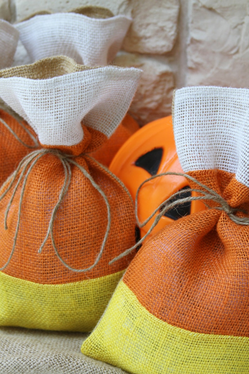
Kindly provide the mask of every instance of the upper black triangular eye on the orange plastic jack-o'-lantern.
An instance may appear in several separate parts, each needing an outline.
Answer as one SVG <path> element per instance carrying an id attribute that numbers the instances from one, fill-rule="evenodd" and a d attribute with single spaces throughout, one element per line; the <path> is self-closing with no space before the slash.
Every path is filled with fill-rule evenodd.
<path id="1" fill-rule="evenodd" d="M 138 157 L 135 165 L 143 168 L 150 175 L 156 175 L 162 160 L 163 148 L 154 148 L 142 156 Z"/>

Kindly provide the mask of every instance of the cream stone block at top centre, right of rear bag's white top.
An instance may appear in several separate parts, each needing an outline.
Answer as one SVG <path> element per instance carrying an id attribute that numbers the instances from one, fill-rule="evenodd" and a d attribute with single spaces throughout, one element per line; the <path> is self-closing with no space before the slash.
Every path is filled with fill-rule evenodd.
<path id="1" fill-rule="evenodd" d="M 131 0 L 130 30 L 123 48 L 128 52 L 164 54 L 177 36 L 178 0 Z"/>

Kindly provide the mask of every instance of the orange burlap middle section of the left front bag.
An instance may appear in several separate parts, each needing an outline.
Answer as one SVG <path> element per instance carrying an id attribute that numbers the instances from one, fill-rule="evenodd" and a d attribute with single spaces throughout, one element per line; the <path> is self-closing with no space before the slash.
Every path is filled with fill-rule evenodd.
<path id="1" fill-rule="evenodd" d="M 59 284 L 97 278 L 124 270 L 134 254 L 110 266 L 111 258 L 135 243 L 135 217 L 133 204 L 123 187 L 94 160 L 82 155 L 102 143 L 102 133 L 84 126 L 80 144 L 61 147 L 63 152 L 74 154 L 74 162 L 90 173 L 108 197 L 111 207 L 111 229 L 99 263 L 88 272 L 74 272 L 65 267 L 55 254 L 51 238 L 42 252 L 43 242 L 52 210 L 58 201 L 65 180 L 61 160 L 55 154 L 43 155 L 33 167 L 21 206 L 20 226 L 15 251 L 9 265 L 3 270 L 7 275 L 43 284 Z M 56 147 L 59 148 L 59 147 Z M 68 193 L 57 211 L 53 236 L 60 257 L 71 267 L 84 269 L 91 266 L 100 251 L 107 226 L 107 207 L 100 193 L 75 165 L 71 165 L 72 179 Z M 7 183 L 4 188 L 8 187 Z M 6 211 L 15 184 L 0 202 L 0 267 L 7 262 L 13 246 L 18 206 L 22 186 L 19 185 L 7 218 Z"/>

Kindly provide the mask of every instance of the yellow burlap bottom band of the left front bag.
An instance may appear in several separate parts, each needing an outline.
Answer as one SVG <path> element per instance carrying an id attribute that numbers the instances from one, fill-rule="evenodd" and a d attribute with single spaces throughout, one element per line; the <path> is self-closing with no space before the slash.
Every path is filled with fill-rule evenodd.
<path id="1" fill-rule="evenodd" d="M 51 285 L 0 272 L 0 325 L 91 331 L 123 273 Z"/>

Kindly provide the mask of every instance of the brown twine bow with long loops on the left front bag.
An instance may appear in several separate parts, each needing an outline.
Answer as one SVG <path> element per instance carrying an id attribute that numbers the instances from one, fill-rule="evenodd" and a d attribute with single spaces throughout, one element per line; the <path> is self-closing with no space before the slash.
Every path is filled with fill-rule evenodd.
<path id="1" fill-rule="evenodd" d="M 108 201 L 108 198 L 107 198 L 106 194 L 99 187 L 99 185 L 97 183 L 95 183 L 95 181 L 93 180 L 93 178 L 91 177 L 91 175 L 86 171 L 86 169 L 83 166 L 79 165 L 74 160 L 74 157 L 78 157 L 78 155 L 75 156 L 75 155 L 66 154 L 66 153 L 63 153 L 62 151 L 60 151 L 58 149 L 40 149 L 40 150 L 37 150 L 37 151 L 32 151 L 31 153 L 29 153 L 26 157 L 24 157 L 21 160 L 21 162 L 19 163 L 17 169 L 12 173 L 12 175 L 10 175 L 10 177 L 6 180 L 6 182 L 3 184 L 3 186 L 1 187 L 1 190 L 0 190 L 0 192 L 3 191 L 6 188 L 6 185 L 9 183 L 9 186 L 0 195 L 0 201 L 1 201 L 4 198 L 4 196 L 8 193 L 8 191 L 10 190 L 10 188 L 13 186 L 13 184 L 16 181 L 16 178 L 18 176 L 18 173 L 20 172 L 19 178 L 16 181 L 16 184 L 15 184 L 12 196 L 11 196 L 11 198 L 9 200 L 9 203 L 8 203 L 6 211 L 5 211 L 5 216 L 4 216 L 4 229 L 7 230 L 8 229 L 8 226 L 7 226 L 7 217 L 8 217 L 9 211 L 10 211 L 10 207 L 12 205 L 12 202 L 13 202 L 13 199 L 15 197 L 15 194 L 16 194 L 16 191 L 18 189 L 18 186 L 20 185 L 20 183 L 21 183 L 21 181 L 23 179 L 23 184 L 22 184 L 22 189 L 21 189 L 21 195 L 20 195 L 20 200 L 19 200 L 18 220 L 17 220 L 17 224 L 16 224 L 15 236 L 14 236 L 14 239 L 13 239 L 13 247 L 12 247 L 12 251 L 10 253 L 10 256 L 9 256 L 7 262 L 4 264 L 3 267 L 0 268 L 0 271 L 4 270 L 8 266 L 8 264 L 10 263 L 10 260 L 11 260 L 11 258 L 13 256 L 13 253 L 15 251 L 16 240 L 17 240 L 18 231 L 19 231 L 19 224 L 20 224 L 20 220 L 21 220 L 22 199 L 23 199 L 23 196 L 24 196 L 24 192 L 25 192 L 25 187 L 26 187 L 26 184 L 27 184 L 28 176 L 31 173 L 32 169 L 34 168 L 35 164 L 38 162 L 38 160 L 41 157 L 43 157 L 45 154 L 52 154 L 52 155 L 54 155 L 54 156 L 56 156 L 56 157 L 59 158 L 59 160 L 61 161 L 61 163 L 63 165 L 63 169 L 64 169 L 64 173 L 65 173 L 65 179 L 64 179 L 63 186 L 62 186 L 62 188 L 60 190 L 60 193 L 59 193 L 58 201 L 57 201 L 55 207 L 53 208 L 53 211 L 52 211 L 52 214 L 51 214 L 51 218 L 50 218 L 50 221 L 49 221 L 49 227 L 48 227 L 48 230 L 47 230 L 47 234 L 46 234 L 46 236 L 45 236 L 45 238 L 43 240 L 43 243 L 41 244 L 41 246 L 40 246 L 40 248 L 38 250 L 38 253 L 41 253 L 44 245 L 47 242 L 47 239 L 50 236 L 51 237 L 51 241 L 52 241 L 52 245 L 53 245 L 53 248 L 55 250 L 55 253 L 56 253 L 57 257 L 59 258 L 59 260 L 62 262 L 62 264 L 65 267 L 67 267 L 69 270 L 72 270 L 73 272 L 81 273 L 81 272 L 87 272 L 87 271 L 93 269 L 99 263 L 99 260 L 102 257 L 103 251 L 105 249 L 105 244 L 106 244 L 106 241 L 108 239 L 110 227 L 111 227 L 111 206 L 109 204 L 109 201 Z M 84 156 L 85 158 L 89 158 L 91 160 L 94 160 L 92 157 L 88 156 L 87 154 L 80 154 L 79 156 Z M 105 171 L 107 171 L 108 174 L 111 175 L 116 181 L 118 181 L 118 183 L 121 185 L 122 188 L 124 188 L 125 192 L 130 197 L 131 202 L 133 202 L 132 197 L 130 195 L 130 192 L 127 190 L 127 188 L 124 186 L 124 184 L 114 174 L 112 174 L 112 172 L 109 171 L 108 168 L 106 168 L 105 166 L 103 166 L 102 164 L 100 164 L 99 162 L 97 162 L 96 160 L 94 160 L 94 161 L 102 169 L 104 169 Z M 105 200 L 106 208 L 107 208 L 108 223 L 107 223 L 107 226 L 106 226 L 106 233 L 105 233 L 105 236 L 104 236 L 104 239 L 103 239 L 103 242 L 102 242 L 99 254 L 97 255 L 97 258 L 94 261 L 94 263 L 91 266 L 89 266 L 89 267 L 87 267 L 85 269 L 75 269 L 75 268 L 69 266 L 62 259 L 62 257 L 60 256 L 60 254 L 59 254 L 59 252 L 57 250 L 55 239 L 54 239 L 54 236 L 53 236 L 53 225 L 54 225 L 54 221 L 55 221 L 55 218 L 56 218 L 57 210 L 59 209 L 59 207 L 60 207 L 60 205 L 61 205 L 61 203 L 63 201 L 63 198 L 65 197 L 66 193 L 68 192 L 68 188 L 69 188 L 70 183 L 71 183 L 71 178 L 72 178 L 71 165 L 75 165 L 78 169 L 80 169 L 80 171 L 83 173 L 83 175 L 90 181 L 90 183 L 92 184 L 92 186 L 94 188 L 96 188 L 96 190 L 100 193 L 100 195 Z"/>

